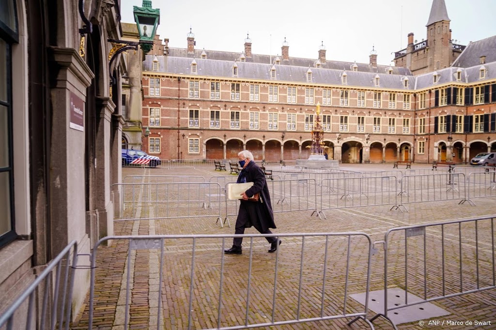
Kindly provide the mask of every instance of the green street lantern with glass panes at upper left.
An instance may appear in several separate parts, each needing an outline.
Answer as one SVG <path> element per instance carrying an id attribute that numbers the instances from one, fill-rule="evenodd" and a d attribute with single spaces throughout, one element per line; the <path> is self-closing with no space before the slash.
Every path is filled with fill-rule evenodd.
<path id="1" fill-rule="evenodd" d="M 160 9 L 152 8 L 151 0 L 143 0 L 143 6 L 133 6 L 134 21 L 138 27 L 139 44 L 144 54 L 148 54 L 153 47 L 155 31 L 160 24 Z"/>

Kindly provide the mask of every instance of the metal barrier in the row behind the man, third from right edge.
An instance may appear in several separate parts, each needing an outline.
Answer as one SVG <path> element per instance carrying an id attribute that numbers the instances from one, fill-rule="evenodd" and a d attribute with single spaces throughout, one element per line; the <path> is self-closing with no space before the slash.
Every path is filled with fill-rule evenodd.
<path id="1" fill-rule="evenodd" d="M 323 179 L 320 183 L 320 208 L 323 210 L 397 204 L 396 176 L 345 177 Z"/>

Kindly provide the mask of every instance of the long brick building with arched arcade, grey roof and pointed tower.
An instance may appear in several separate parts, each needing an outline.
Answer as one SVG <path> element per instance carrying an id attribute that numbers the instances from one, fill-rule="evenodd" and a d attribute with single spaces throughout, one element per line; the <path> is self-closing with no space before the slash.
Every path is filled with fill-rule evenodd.
<path id="1" fill-rule="evenodd" d="M 329 159 L 466 163 L 496 150 L 496 36 L 453 45 L 444 0 L 434 0 L 425 47 L 413 34 L 396 66 L 170 48 L 156 38 L 143 62 L 143 149 L 162 159 L 307 159 L 320 120 Z M 434 31 L 434 32 L 433 32 Z M 434 46 L 435 45 L 435 46 Z M 463 51 L 462 51 L 463 49 Z M 123 145 L 127 137 L 123 136 Z"/>

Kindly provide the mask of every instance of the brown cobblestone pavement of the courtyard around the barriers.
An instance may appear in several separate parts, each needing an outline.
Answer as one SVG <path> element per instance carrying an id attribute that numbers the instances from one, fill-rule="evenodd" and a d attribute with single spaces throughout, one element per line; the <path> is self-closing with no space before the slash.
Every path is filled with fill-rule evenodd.
<path id="1" fill-rule="evenodd" d="M 400 165 L 401 166 L 401 165 Z M 206 179 L 212 176 L 229 175 L 213 170 L 212 165 L 196 168 L 123 168 L 123 177 L 136 175 L 197 175 Z M 349 164 L 341 168 L 352 170 L 391 170 L 391 164 Z M 428 165 L 413 164 L 413 169 L 428 168 Z M 400 168 L 401 169 L 401 168 Z M 143 189 L 145 190 L 145 189 Z M 185 192 L 182 191 L 184 194 Z M 187 192 L 186 192 L 187 193 Z M 146 192 L 141 192 L 141 198 Z M 191 193 L 192 194 L 192 193 Z M 275 201 L 274 201 L 275 202 Z M 273 203 L 274 203 L 273 202 Z M 459 200 L 422 202 L 408 204 L 408 211 L 390 211 L 391 206 L 369 206 L 326 210 L 326 219 L 311 216 L 311 211 L 292 211 L 275 214 L 277 229 L 274 233 L 311 232 L 365 232 L 373 241 L 384 240 L 390 228 L 412 224 L 426 224 L 445 220 L 462 220 L 496 214 L 496 198 L 474 199 L 476 206 L 458 204 Z M 135 205 L 126 212 L 130 216 L 155 218 L 156 208 Z M 225 211 L 222 211 L 223 213 Z M 215 213 L 215 212 L 214 212 Z M 116 235 L 183 235 L 183 234 L 233 234 L 232 226 L 223 228 L 216 223 L 216 217 L 124 220 L 115 222 Z M 226 223 L 227 224 L 227 223 Z M 442 232 L 441 232 L 442 230 Z M 258 233 L 248 228 L 247 234 Z M 460 234 L 461 233 L 461 234 Z M 491 235 L 493 233 L 493 235 Z M 446 225 L 426 230 L 426 241 L 422 236 L 408 240 L 408 291 L 423 297 L 427 281 L 428 297 L 458 292 L 495 284 L 494 223 L 481 221 L 477 234 L 475 225 Z M 444 239 L 441 239 L 444 235 Z M 461 244 L 460 244 L 461 242 Z M 114 240 L 111 247 L 98 249 L 96 290 L 94 308 L 95 329 L 124 329 L 126 275 L 129 271 L 131 291 L 129 324 L 131 329 L 188 329 L 188 310 L 191 282 L 191 239 L 171 239 L 165 242 L 164 267 L 160 282 L 160 250 L 132 250 L 128 262 L 128 241 Z M 251 267 L 248 324 L 270 322 L 275 297 L 275 321 L 293 320 L 300 300 L 300 319 L 323 315 L 361 313 L 364 306 L 349 297 L 353 293 L 366 291 L 368 244 L 363 237 L 353 237 L 348 249 L 347 237 L 308 237 L 302 248 L 302 237 L 285 237 L 278 254 L 268 254 L 268 243 L 263 238 L 243 242 L 242 255 L 225 255 L 221 260 L 221 239 L 197 239 L 195 241 L 193 296 L 191 329 L 215 329 L 217 327 L 221 267 L 223 267 L 221 326 L 243 325 L 246 317 L 248 271 Z M 327 244 L 327 258 L 325 248 Z M 231 239 L 224 241 L 224 247 L 231 246 Z M 424 249 L 424 246 L 426 247 Z M 384 288 L 384 251 L 378 244 L 377 254 L 372 256 L 370 290 Z M 405 283 L 405 242 L 399 232 L 390 236 L 388 257 L 388 286 Z M 461 253 L 460 253 L 461 250 Z M 349 253 L 348 277 L 347 255 Z M 442 262 L 444 255 L 444 263 Z M 303 256 L 303 257 L 302 257 Z M 277 290 L 274 296 L 275 259 L 277 264 Z M 302 261 L 303 258 L 303 261 Z M 463 264 L 460 275 L 459 265 Z M 323 271 L 326 265 L 324 308 L 321 310 Z M 475 276 L 479 270 L 479 276 Z M 300 273 L 302 274 L 300 281 Z M 424 276 L 425 273 L 425 276 Z M 445 279 L 444 286 L 442 278 Z M 348 285 L 346 286 L 346 279 Z M 460 281 L 462 282 L 460 284 Z M 159 287 L 162 295 L 159 299 Z M 301 287 L 301 295 L 299 295 Z M 345 292 L 346 289 L 346 292 Z M 346 307 L 344 300 L 346 299 Z M 160 304 L 160 306 L 159 306 Z M 398 329 L 496 329 L 496 290 L 442 299 L 434 302 L 445 309 L 447 316 L 400 324 Z M 160 309 L 160 318 L 158 312 Z M 393 313 L 393 312 L 390 312 Z M 369 310 L 369 319 L 375 315 Z M 337 319 L 319 322 L 281 325 L 258 329 L 370 329 L 363 321 L 351 326 L 351 319 Z M 429 321 L 445 321 L 443 325 L 430 325 Z M 446 325 L 446 322 L 462 322 L 460 325 Z M 491 322 L 491 325 L 467 325 Z M 72 329 L 87 329 L 88 306 L 78 317 Z M 373 322 L 375 329 L 392 329 L 383 318 Z"/>

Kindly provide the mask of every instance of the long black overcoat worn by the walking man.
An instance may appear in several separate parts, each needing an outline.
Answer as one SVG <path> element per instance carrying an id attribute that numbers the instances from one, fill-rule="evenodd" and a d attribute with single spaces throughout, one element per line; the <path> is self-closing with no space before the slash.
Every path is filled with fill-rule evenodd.
<path id="1" fill-rule="evenodd" d="M 243 176 L 245 176 L 247 182 L 253 182 L 253 186 L 246 191 L 247 196 L 251 197 L 259 192 L 261 198 L 258 202 L 241 200 L 240 211 L 241 208 L 244 208 L 247 212 L 239 212 L 237 222 L 244 222 L 245 227 L 248 228 L 258 219 L 263 230 L 276 228 L 272 204 L 270 203 L 269 187 L 262 169 L 255 162 L 250 161 L 238 176 L 238 183 L 241 182 Z M 248 218 L 246 217 L 247 215 Z"/>

